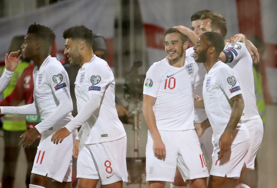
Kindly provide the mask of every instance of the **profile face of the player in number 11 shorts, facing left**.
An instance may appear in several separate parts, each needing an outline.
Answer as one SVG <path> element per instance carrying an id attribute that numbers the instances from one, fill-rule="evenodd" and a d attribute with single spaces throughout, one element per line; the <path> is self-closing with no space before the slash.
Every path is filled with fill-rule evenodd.
<path id="1" fill-rule="evenodd" d="M 22 44 L 22 56 L 24 59 L 32 60 L 35 56 L 36 39 L 31 33 L 27 33 Z"/>

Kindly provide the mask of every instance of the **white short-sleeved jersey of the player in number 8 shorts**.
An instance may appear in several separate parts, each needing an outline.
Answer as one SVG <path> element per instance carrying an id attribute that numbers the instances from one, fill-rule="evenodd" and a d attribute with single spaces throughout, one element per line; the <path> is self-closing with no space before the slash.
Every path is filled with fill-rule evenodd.
<path id="1" fill-rule="evenodd" d="M 94 55 L 78 71 L 74 84 L 78 112 L 87 103 L 89 93 L 102 96 L 100 107 L 82 125 L 81 142 L 96 144 L 124 137 L 126 133 L 115 108 L 115 79 L 107 62 Z"/>

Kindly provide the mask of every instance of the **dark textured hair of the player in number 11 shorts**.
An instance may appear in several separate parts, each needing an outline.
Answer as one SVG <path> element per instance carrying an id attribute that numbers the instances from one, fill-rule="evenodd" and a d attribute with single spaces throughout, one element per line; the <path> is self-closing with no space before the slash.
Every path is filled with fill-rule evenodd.
<path id="1" fill-rule="evenodd" d="M 36 23 L 33 23 L 28 27 L 27 33 L 31 33 L 35 38 L 45 40 L 46 42 L 49 42 L 49 44 L 52 44 L 56 38 L 55 33 L 50 27 Z"/>

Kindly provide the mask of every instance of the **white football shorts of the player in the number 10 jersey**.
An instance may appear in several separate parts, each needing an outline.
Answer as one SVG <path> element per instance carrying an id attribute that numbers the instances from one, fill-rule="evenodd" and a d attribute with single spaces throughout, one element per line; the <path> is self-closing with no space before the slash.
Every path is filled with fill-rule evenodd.
<path id="1" fill-rule="evenodd" d="M 208 177 L 207 165 L 194 129 L 159 131 L 166 148 L 165 160 L 154 156 L 153 138 L 148 131 L 146 145 L 146 181 L 173 182 L 176 166 L 184 179 Z"/>

